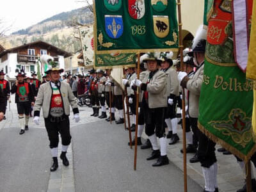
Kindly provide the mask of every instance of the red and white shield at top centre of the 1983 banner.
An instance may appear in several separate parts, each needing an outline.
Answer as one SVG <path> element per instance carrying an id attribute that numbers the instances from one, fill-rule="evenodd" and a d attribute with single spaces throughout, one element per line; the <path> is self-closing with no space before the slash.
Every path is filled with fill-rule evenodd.
<path id="1" fill-rule="evenodd" d="M 141 19 L 145 15 L 145 0 L 128 0 L 129 14 L 133 19 Z"/>

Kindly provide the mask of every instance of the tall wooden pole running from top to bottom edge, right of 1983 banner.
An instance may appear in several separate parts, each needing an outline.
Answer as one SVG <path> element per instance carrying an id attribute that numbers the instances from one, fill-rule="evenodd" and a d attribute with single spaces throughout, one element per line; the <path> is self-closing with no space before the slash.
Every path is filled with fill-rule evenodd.
<path id="1" fill-rule="evenodd" d="M 178 13 L 179 13 L 179 50 L 180 50 L 180 67 L 184 71 L 183 63 L 183 45 L 182 45 L 182 22 L 181 22 L 181 8 L 180 0 L 177 0 L 178 3 Z M 187 184 L 187 152 L 186 152 L 186 111 L 185 111 L 185 90 L 182 88 L 182 135 L 183 135 L 183 169 L 184 169 L 184 191 L 188 191 Z"/>

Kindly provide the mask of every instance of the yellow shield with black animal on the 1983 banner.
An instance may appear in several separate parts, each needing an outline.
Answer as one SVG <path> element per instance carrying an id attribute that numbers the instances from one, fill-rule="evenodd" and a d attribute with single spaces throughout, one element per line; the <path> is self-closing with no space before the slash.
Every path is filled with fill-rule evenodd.
<path id="1" fill-rule="evenodd" d="M 169 34 L 170 25 L 168 16 L 153 15 L 154 33 L 159 38 L 164 38 Z"/>

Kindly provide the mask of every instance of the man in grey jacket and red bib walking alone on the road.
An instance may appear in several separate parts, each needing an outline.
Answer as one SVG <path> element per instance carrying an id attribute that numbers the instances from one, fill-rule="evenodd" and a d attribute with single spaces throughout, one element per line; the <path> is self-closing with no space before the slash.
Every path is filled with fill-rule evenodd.
<path id="1" fill-rule="evenodd" d="M 73 109 L 76 123 L 79 122 L 79 110 L 77 108 L 77 99 L 72 93 L 70 85 L 59 81 L 63 69 L 59 68 L 58 63 L 53 60 L 42 61 L 48 63 L 49 67 L 46 73 L 51 77 L 51 81 L 42 84 L 39 88 L 33 120 L 36 125 L 39 125 L 40 110 L 42 108 L 53 159 L 51 172 L 54 172 L 58 168 L 59 133 L 62 143 L 60 159 L 62 159 L 62 163 L 65 166 L 69 164 L 66 154 L 71 142 L 68 117 L 70 115 L 70 106 Z"/>

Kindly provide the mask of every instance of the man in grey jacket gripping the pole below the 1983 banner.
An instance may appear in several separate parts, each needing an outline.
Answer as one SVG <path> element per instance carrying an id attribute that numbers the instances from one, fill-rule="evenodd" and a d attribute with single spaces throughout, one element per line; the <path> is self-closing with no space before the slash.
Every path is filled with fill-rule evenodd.
<path id="1" fill-rule="evenodd" d="M 159 70 L 161 60 L 159 53 L 148 53 L 147 68 L 149 72 L 144 79 L 136 79 L 131 86 L 137 86 L 143 91 L 142 108 L 145 115 L 145 132 L 152 143 L 153 152 L 147 160 L 157 159 L 152 166 L 169 164 L 166 154 L 166 138 L 164 137 L 164 113 L 167 107 L 166 75 Z M 157 144 L 159 138 L 159 145 Z M 160 149 L 160 150 L 159 150 Z"/>

